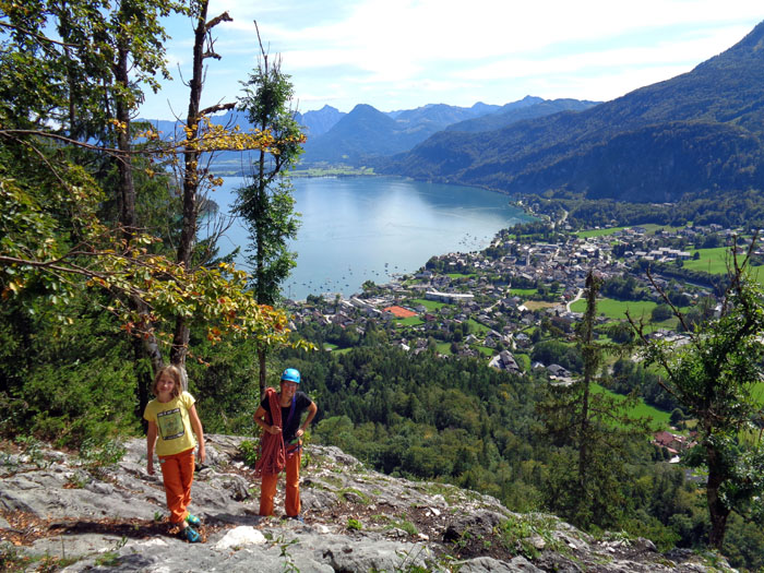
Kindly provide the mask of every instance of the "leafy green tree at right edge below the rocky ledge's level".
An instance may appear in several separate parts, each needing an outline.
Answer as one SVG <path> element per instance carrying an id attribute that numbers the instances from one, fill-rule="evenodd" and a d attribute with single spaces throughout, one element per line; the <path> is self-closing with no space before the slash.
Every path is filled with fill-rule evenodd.
<path id="1" fill-rule="evenodd" d="M 764 517 L 761 405 L 754 395 L 764 373 L 764 294 L 748 271 L 754 244 L 755 240 L 742 259 L 732 247 L 729 287 L 717 318 L 693 327 L 664 295 L 689 344 L 675 347 L 650 339 L 630 318 L 647 361 L 657 362 L 666 373 L 661 385 L 697 419 L 697 445 L 689 463 L 708 473 L 709 544 L 717 549 L 723 547 L 730 512 Z"/>

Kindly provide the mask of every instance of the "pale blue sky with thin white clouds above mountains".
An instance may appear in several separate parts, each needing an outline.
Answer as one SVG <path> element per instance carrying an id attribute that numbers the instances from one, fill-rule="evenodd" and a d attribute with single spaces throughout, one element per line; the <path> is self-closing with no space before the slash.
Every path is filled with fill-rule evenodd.
<path id="1" fill-rule="evenodd" d="M 207 59 L 203 107 L 230 102 L 258 65 L 253 21 L 291 76 L 293 107 L 381 111 L 427 104 L 503 105 L 526 95 L 605 102 L 689 72 L 764 21 L 762 0 L 212 0 L 220 60 Z M 188 107 L 192 24 L 165 22 L 172 82 L 140 116 Z"/>

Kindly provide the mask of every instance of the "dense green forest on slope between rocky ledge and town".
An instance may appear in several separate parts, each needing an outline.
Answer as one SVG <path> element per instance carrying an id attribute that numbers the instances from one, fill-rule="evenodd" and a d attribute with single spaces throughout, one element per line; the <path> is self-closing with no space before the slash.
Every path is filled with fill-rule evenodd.
<path id="1" fill-rule="evenodd" d="M 546 377 L 378 346 L 285 359 L 306 373 L 321 404 L 314 439 L 393 476 L 477 489 L 527 512 L 553 505 L 575 458 L 539 409 L 551 397 Z M 597 527 L 645 536 L 664 549 L 697 547 L 706 535 L 703 490 L 644 439 L 625 452 L 624 459 L 610 454 L 610 469 L 623 464 L 622 474 L 617 487 L 598 490 Z M 754 557 L 764 547 L 757 528 L 732 516 L 727 536 L 733 563 L 764 565 Z"/>

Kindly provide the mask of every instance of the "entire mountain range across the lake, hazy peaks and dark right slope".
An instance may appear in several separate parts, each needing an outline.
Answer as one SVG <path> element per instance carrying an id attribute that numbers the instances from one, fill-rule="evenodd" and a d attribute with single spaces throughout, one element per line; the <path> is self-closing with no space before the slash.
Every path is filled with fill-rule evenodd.
<path id="1" fill-rule="evenodd" d="M 764 189 L 764 23 L 691 72 L 607 103 L 527 96 L 389 112 L 361 104 L 296 119 L 308 135 L 301 167 L 372 166 L 505 192 L 638 202 Z M 236 111 L 213 121 L 249 127 Z M 155 123 L 174 131 L 174 122 Z M 232 152 L 215 163 L 242 169 Z"/>

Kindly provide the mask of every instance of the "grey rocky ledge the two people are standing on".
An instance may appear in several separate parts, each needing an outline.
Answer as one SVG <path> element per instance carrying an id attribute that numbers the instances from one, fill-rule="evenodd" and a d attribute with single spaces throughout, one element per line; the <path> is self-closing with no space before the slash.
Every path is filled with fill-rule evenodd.
<path id="1" fill-rule="evenodd" d="M 715 554 L 659 553 L 646 539 L 595 538 L 551 515 L 510 512 L 474 491 L 392 478 L 320 445 L 306 453 L 305 522 L 263 518 L 259 482 L 240 459 L 242 440 L 207 437 L 191 506 L 204 522 L 203 544 L 187 544 L 168 529 L 162 478 L 145 471 L 144 440 L 126 442 L 116 464 L 105 463 L 103 452 L 83 457 L 8 444 L 0 453 L 0 570 L 733 571 Z"/>

